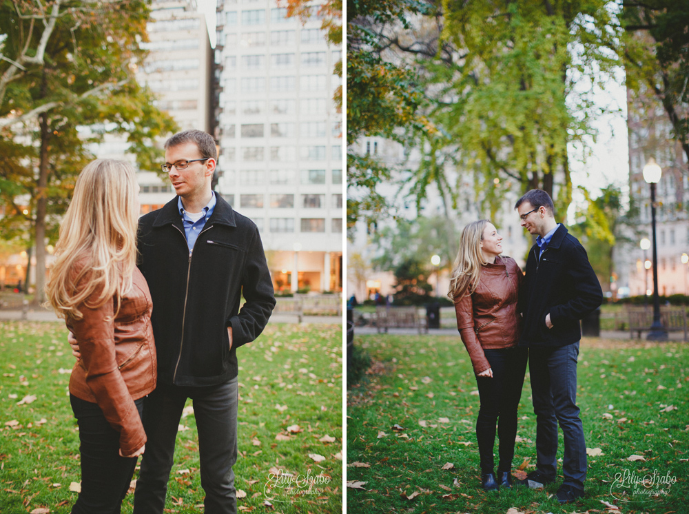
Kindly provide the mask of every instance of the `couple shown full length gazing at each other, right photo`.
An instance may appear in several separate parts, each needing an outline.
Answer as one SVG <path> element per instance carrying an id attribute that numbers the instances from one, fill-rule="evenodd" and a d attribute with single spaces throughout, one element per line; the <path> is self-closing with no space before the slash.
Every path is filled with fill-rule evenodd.
<path id="1" fill-rule="evenodd" d="M 557 423 L 564 434 L 561 504 L 584 495 L 586 442 L 577 407 L 579 320 L 603 301 L 586 250 L 555 222 L 553 200 L 532 189 L 517 201 L 522 226 L 536 243 L 526 276 L 512 258 L 501 257 L 502 236 L 489 220 L 464 227 L 449 296 L 457 329 L 469 351 L 481 407 L 476 421 L 484 489 L 510 488 L 517 407 L 526 361 L 536 414 L 536 470 L 517 484 L 532 488 L 555 482 Z M 493 467 L 495 424 L 500 442 Z"/>

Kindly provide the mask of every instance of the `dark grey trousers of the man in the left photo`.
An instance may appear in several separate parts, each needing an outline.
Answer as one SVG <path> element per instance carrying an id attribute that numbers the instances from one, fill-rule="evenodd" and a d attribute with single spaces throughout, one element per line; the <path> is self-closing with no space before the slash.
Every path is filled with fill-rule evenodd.
<path id="1" fill-rule="evenodd" d="M 135 514 L 163 514 L 174 444 L 187 398 L 194 400 L 205 514 L 235 514 L 232 466 L 237 460 L 238 382 L 217 386 L 158 385 L 148 395 L 143 426 L 148 442 L 134 491 Z"/>

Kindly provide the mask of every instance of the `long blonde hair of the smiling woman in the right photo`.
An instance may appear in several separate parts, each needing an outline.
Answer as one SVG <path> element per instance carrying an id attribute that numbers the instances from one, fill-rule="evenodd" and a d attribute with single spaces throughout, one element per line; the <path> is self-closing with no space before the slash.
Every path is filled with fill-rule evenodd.
<path id="1" fill-rule="evenodd" d="M 460 300 L 465 294 L 473 294 L 481 276 L 481 266 L 488 264 L 481 251 L 483 231 L 490 220 L 478 220 L 464 227 L 460 236 L 460 251 L 457 252 L 452 274 L 450 290 L 447 296 L 451 300 Z"/>

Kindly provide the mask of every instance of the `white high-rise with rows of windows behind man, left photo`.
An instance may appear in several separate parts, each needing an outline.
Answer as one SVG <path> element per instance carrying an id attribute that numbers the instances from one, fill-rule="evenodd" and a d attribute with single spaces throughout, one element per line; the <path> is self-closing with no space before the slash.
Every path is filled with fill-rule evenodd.
<path id="1" fill-rule="evenodd" d="M 342 54 L 317 11 L 302 23 L 274 0 L 217 7 L 216 190 L 258 225 L 276 291 L 342 288 Z"/>

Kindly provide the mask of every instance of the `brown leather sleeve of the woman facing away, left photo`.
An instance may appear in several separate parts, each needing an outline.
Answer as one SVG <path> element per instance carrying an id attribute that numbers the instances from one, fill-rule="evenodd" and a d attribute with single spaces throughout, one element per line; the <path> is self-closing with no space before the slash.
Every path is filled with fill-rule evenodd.
<path id="1" fill-rule="evenodd" d="M 98 296 L 96 290 L 92 298 Z M 81 362 L 90 387 L 105 419 L 120 433 L 123 455 L 131 455 L 146 442 L 141 418 L 118 369 L 114 340 L 113 300 L 97 309 L 79 305 L 81 320 L 70 320 L 70 329 L 79 342 Z"/>

